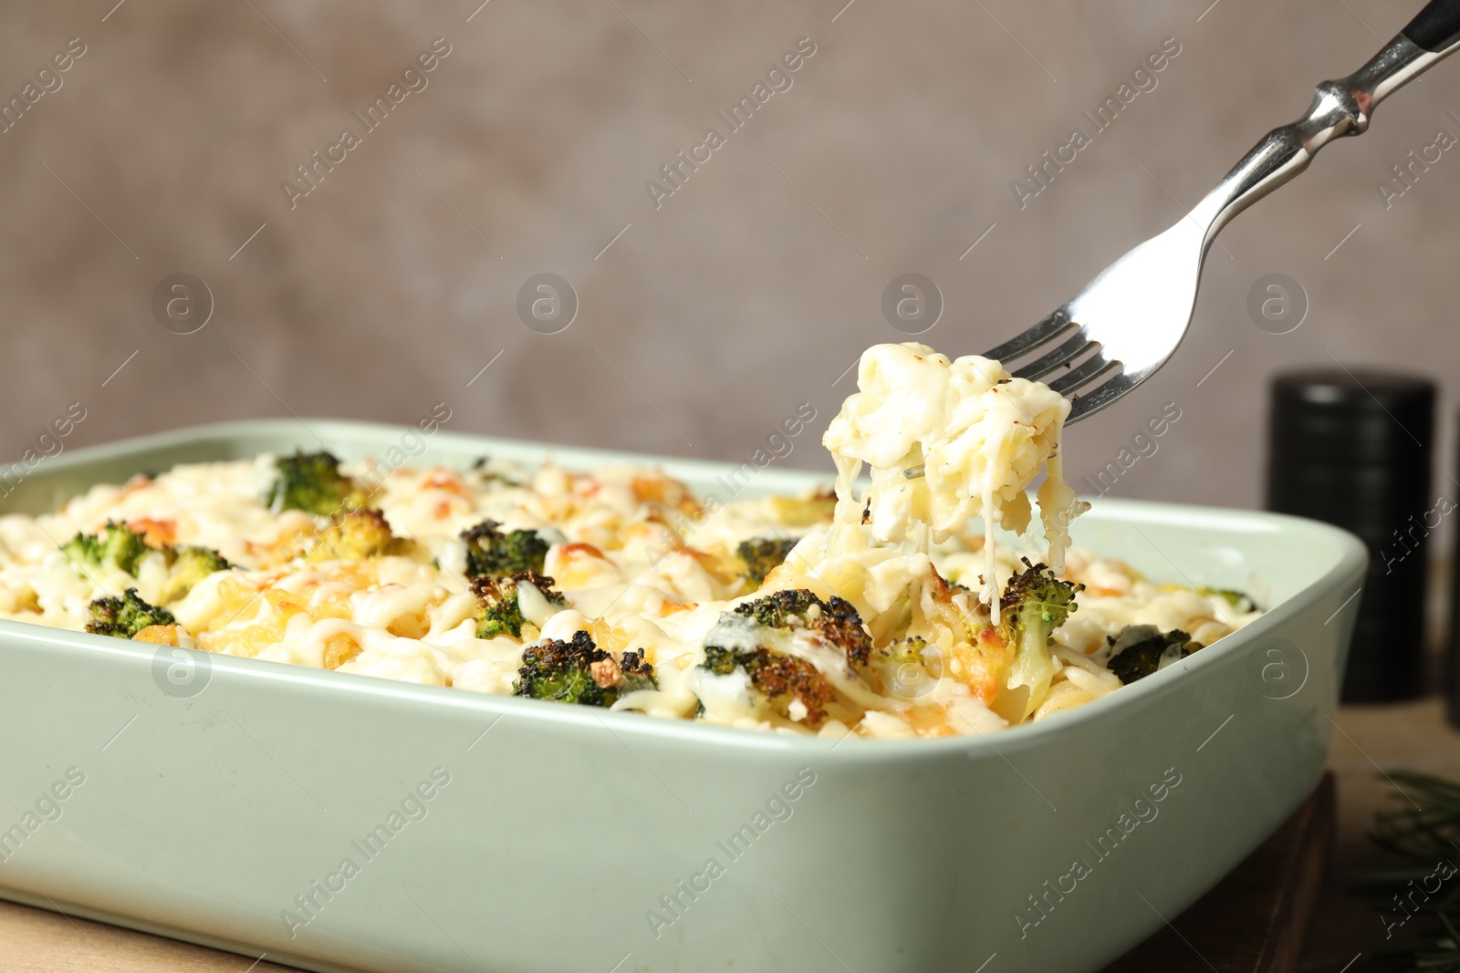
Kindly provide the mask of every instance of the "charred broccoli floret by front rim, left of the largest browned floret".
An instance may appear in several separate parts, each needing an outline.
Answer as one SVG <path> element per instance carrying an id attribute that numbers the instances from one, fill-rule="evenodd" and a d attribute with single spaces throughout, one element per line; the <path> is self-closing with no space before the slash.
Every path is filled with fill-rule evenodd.
<path id="1" fill-rule="evenodd" d="M 644 661 L 642 652 L 625 652 L 615 659 L 587 632 L 574 632 L 572 642 L 529 645 L 517 675 L 514 696 L 578 706 L 609 708 L 625 693 L 658 689 L 654 667 Z"/>

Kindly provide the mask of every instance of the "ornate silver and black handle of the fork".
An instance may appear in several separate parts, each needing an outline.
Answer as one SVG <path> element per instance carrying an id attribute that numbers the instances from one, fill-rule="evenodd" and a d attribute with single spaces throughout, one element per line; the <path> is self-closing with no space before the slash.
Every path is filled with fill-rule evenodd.
<path id="1" fill-rule="evenodd" d="M 1431 0 L 1393 41 L 1348 77 L 1323 82 L 1307 114 L 1273 128 L 1191 210 L 1203 247 L 1248 206 L 1308 168 L 1318 149 L 1364 134 L 1374 106 L 1460 47 L 1460 0 Z"/>

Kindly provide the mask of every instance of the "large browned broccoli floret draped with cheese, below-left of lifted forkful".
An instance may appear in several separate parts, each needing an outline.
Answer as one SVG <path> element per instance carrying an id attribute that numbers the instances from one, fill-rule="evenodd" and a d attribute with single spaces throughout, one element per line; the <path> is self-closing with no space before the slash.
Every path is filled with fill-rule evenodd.
<path id="1" fill-rule="evenodd" d="M 850 602 L 835 595 L 822 601 L 810 591 L 794 589 L 748 601 L 721 616 L 705 636 L 701 667 L 717 675 L 745 670 L 750 686 L 768 702 L 783 709 L 788 708 L 787 699 L 799 702 L 803 719 L 816 726 L 837 691 L 812 662 L 777 651 L 777 642 L 797 636 L 841 649 L 856 665 L 866 665 L 872 656 L 872 637 Z"/>

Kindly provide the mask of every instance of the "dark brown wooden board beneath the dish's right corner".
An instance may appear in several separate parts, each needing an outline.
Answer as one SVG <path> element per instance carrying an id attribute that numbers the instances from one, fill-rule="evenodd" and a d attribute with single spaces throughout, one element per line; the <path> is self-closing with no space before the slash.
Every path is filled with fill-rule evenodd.
<path id="1" fill-rule="evenodd" d="M 1105 973 L 1292 973 L 1333 848 L 1333 773 L 1231 875 Z"/>

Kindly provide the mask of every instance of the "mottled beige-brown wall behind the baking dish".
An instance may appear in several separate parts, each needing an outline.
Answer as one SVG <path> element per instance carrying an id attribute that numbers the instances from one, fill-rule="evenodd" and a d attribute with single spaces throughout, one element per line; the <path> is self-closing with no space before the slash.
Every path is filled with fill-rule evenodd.
<path id="1" fill-rule="evenodd" d="M 73 401 L 88 419 L 69 446 L 291 410 L 412 422 L 438 401 L 453 429 L 707 458 L 749 455 L 802 401 L 819 435 L 857 353 L 902 337 L 879 309 L 895 274 L 945 295 L 924 340 L 991 346 L 1178 219 L 1418 7 L 114 1 L 0 4 L 6 96 L 69 38 L 86 44 L 0 134 L 4 455 Z M 428 86 L 364 133 L 350 112 L 438 36 L 451 53 Z M 816 53 L 793 86 L 656 210 L 644 182 L 707 127 L 724 134 L 715 111 L 800 38 Z M 1010 182 L 1167 38 L 1180 54 L 1155 89 L 1021 209 Z M 1259 505 L 1273 371 L 1332 354 L 1454 387 L 1460 150 L 1388 210 L 1375 188 L 1438 128 L 1460 136 L 1451 108 L 1460 63 L 1240 217 L 1187 344 L 1077 427 L 1070 471 L 1177 403 L 1114 493 Z M 291 210 L 280 181 L 346 125 L 361 144 Z M 196 334 L 153 319 L 152 290 L 177 271 L 216 299 Z M 540 271 L 581 302 L 561 334 L 515 312 Z M 1291 334 L 1248 319 L 1269 273 L 1311 301 Z M 788 465 L 825 465 L 812 438 Z M 1441 473 L 1451 462 L 1445 449 Z"/>

